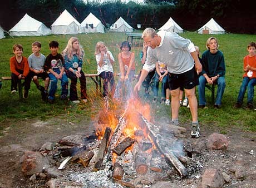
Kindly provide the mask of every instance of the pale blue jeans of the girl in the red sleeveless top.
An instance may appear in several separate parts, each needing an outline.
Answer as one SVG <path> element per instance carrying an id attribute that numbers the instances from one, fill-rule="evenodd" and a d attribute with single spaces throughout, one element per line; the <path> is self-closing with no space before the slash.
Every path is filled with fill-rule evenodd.
<path id="1" fill-rule="evenodd" d="M 125 93 L 123 93 L 123 94 L 126 95 L 126 97 L 125 97 L 126 100 L 128 100 L 129 98 L 131 98 L 134 95 L 133 89 L 132 89 L 132 80 L 134 79 L 134 74 L 135 74 L 135 71 L 131 70 L 129 73 L 128 79 L 124 82 L 121 82 L 121 80 L 119 78 L 119 81 L 116 86 L 114 98 L 120 98 L 121 93 L 122 93 L 122 88 L 125 89 Z M 121 77 L 121 74 L 120 74 L 120 77 Z"/>

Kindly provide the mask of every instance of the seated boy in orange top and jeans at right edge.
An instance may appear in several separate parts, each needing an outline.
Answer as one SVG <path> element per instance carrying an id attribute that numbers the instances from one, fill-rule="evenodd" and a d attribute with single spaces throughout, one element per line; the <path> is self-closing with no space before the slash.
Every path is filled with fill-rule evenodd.
<path id="1" fill-rule="evenodd" d="M 256 85 L 256 44 L 254 42 L 250 42 L 247 46 L 247 51 L 249 55 L 244 57 L 243 82 L 240 87 L 237 103 L 235 103 L 235 108 L 240 108 L 242 106 L 244 94 L 248 87 L 247 108 L 252 110 L 254 86 Z"/>

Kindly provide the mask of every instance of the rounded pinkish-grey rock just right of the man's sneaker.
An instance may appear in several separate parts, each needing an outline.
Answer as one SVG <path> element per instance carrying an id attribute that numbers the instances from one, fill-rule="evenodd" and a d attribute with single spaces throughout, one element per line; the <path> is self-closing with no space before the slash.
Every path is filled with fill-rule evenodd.
<path id="1" fill-rule="evenodd" d="M 224 150 L 227 150 L 227 148 L 228 148 L 228 139 L 225 135 L 222 135 L 219 133 L 212 133 L 208 137 L 206 146 L 209 149 L 224 151 Z"/>

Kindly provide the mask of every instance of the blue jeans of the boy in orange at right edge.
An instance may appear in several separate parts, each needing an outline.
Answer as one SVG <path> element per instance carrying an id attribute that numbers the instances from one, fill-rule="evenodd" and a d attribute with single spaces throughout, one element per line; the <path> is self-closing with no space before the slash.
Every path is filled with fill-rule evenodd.
<path id="1" fill-rule="evenodd" d="M 255 85 L 256 85 L 256 78 L 250 79 L 249 77 L 244 77 L 242 85 L 240 87 L 239 94 L 238 94 L 237 102 L 243 103 L 244 94 L 245 94 L 246 88 L 248 87 L 247 103 L 253 103 Z"/>

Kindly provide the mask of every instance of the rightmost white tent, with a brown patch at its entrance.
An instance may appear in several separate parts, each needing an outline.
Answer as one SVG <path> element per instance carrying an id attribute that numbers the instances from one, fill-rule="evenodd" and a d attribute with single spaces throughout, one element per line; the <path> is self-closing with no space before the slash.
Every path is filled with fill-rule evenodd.
<path id="1" fill-rule="evenodd" d="M 213 18 L 210 19 L 203 27 L 198 29 L 200 34 L 225 34 L 225 30 L 215 22 Z"/>

